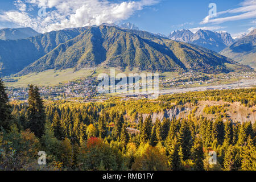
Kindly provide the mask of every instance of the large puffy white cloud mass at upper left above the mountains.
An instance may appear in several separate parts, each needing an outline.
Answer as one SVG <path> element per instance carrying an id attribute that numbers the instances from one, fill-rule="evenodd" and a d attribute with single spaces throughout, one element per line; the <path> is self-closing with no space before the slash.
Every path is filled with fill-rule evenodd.
<path id="1" fill-rule="evenodd" d="M 16 0 L 16 10 L 3 12 L 0 20 L 48 32 L 69 27 L 118 23 L 130 18 L 135 11 L 158 2 L 159 0 L 123 0 L 120 3 L 108 0 Z M 45 9 L 46 16 L 32 16 L 29 13 L 31 8 Z"/>

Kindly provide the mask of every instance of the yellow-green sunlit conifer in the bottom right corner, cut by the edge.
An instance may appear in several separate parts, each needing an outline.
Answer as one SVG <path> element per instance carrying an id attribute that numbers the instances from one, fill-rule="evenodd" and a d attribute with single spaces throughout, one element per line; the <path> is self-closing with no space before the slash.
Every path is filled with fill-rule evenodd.
<path id="1" fill-rule="evenodd" d="M 242 148 L 242 170 L 256 171 L 256 146 L 249 135 L 246 146 Z"/>

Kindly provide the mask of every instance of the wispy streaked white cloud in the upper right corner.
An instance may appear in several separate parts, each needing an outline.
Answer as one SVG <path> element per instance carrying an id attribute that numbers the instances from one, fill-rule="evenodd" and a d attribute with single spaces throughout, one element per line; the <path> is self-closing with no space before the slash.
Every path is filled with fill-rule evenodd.
<path id="1" fill-rule="evenodd" d="M 218 12 L 217 16 L 224 15 L 224 14 L 238 14 L 238 15 L 231 15 L 231 16 L 226 16 L 222 18 L 212 18 L 208 15 L 203 19 L 203 21 L 200 24 L 205 24 L 205 23 L 218 24 L 218 23 L 224 23 L 224 22 L 234 21 L 234 20 L 256 18 L 256 0 L 245 0 L 241 3 L 241 7 Z"/>

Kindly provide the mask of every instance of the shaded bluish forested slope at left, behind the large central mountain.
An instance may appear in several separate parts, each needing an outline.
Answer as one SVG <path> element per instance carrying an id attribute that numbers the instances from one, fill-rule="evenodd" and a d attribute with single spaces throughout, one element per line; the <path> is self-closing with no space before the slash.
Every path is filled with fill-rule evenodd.
<path id="1" fill-rule="evenodd" d="M 0 77 L 21 71 L 52 51 L 60 43 L 75 38 L 84 28 L 52 31 L 28 39 L 0 40 Z"/>

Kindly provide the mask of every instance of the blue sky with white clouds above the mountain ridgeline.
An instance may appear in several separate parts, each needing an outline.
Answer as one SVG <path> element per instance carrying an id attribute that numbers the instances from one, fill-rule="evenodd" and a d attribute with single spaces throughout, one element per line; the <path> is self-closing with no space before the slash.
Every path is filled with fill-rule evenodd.
<path id="1" fill-rule="evenodd" d="M 31 27 L 49 32 L 127 22 L 140 30 L 164 35 L 182 29 L 196 32 L 201 28 L 226 31 L 236 38 L 256 28 L 256 0 L 0 1 L 0 28 Z"/>

